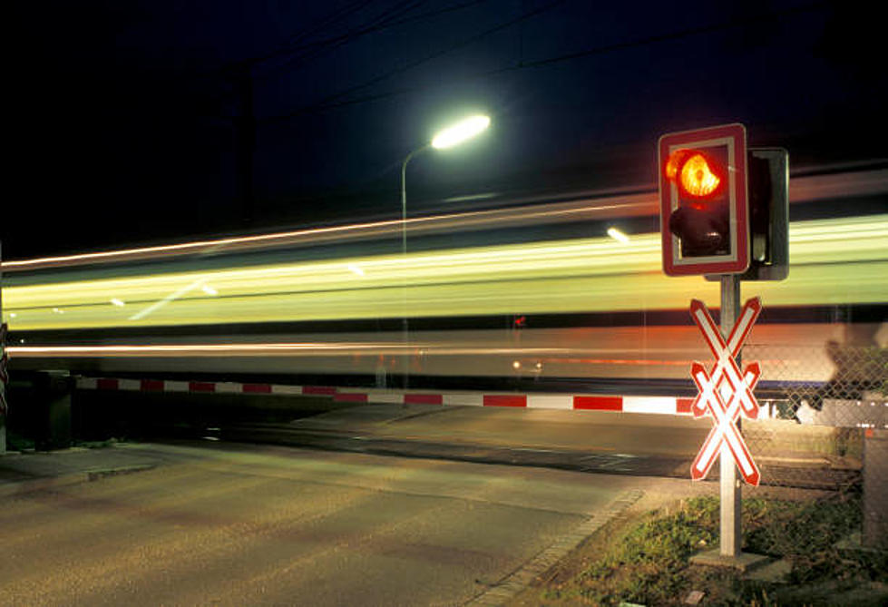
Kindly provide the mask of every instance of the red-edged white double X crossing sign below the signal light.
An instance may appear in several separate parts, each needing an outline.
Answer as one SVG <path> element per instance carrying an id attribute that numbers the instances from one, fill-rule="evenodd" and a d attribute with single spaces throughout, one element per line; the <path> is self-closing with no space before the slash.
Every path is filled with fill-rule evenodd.
<path id="1" fill-rule="evenodd" d="M 716 357 L 711 372 L 707 372 L 701 363 L 691 365 L 691 377 L 698 387 L 697 398 L 691 407 L 694 416 L 711 415 L 714 419 L 709 436 L 691 465 L 690 475 L 695 481 L 706 478 L 709 468 L 721 452 L 721 446 L 726 443 L 744 480 L 749 485 L 758 485 L 761 479 L 758 466 L 749 455 L 747 444 L 737 428 L 741 412 L 750 419 L 758 416 L 758 402 L 753 389 L 761 377 L 761 367 L 758 363 L 751 363 L 741 374 L 736 359 L 761 311 L 761 299 L 749 299 L 726 341 L 706 305 L 698 299 L 690 303 L 691 317 Z"/>

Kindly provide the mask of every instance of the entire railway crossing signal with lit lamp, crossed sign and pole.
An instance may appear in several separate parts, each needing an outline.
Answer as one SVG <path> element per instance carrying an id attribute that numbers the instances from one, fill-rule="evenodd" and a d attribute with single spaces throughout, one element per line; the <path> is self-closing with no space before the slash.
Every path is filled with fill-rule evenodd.
<path id="1" fill-rule="evenodd" d="M 714 420 L 691 465 L 691 478 L 705 478 L 721 455 L 719 553 L 722 559 L 737 560 L 741 534 L 737 467 L 748 484 L 761 480 L 739 422 L 741 414 L 758 416 L 753 390 L 762 371 L 753 363 L 741 372 L 739 355 L 762 306 L 759 299 L 750 299 L 737 319 L 740 280 L 786 279 L 788 154 L 782 149 L 748 150 L 742 124 L 670 132 L 659 138 L 658 153 L 663 271 L 668 276 L 702 275 L 721 283 L 720 331 L 706 306 L 697 299 L 691 302 L 691 315 L 716 357 L 710 371 L 698 362 L 691 366 L 698 387 L 694 415 Z"/>

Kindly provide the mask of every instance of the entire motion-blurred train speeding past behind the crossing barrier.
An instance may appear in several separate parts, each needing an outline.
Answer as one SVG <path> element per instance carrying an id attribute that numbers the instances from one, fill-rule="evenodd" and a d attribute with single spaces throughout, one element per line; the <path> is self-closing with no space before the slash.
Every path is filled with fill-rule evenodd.
<path id="1" fill-rule="evenodd" d="M 790 200 L 789 278 L 742 285 L 741 299 L 764 304 L 744 350 L 763 366 L 758 389 L 841 374 L 880 389 L 888 168 L 794 174 Z M 693 394 L 690 363 L 710 355 L 688 305 L 717 308 L 718 287 L 662 274 L 656 191 L 506 202 L 405 224 L 5 261 L 11 369 Z M 852 350 L 866 361 L 849 365 Z"/>

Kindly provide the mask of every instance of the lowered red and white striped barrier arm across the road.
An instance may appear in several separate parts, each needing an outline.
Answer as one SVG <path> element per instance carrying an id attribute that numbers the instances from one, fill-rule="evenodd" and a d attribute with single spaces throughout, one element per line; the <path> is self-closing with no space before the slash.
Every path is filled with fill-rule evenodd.
<path id="1" fill-rule="evenodd" d="M 506 406 L 532 409 L 615 411 L 691 415 L 693 398 L 622 397 L 571 394 L 516 394 L 466 391 L 398 390 L 367 387 L 281 386 L 238 382 L 177 381 L 171 379 L 117 379 L 78 377 L 82 390 L 124 390 L 135 392 L 189 392 L 249 395 L 288 395 L 330 397 L 342 403 L 395 405 Z"/>

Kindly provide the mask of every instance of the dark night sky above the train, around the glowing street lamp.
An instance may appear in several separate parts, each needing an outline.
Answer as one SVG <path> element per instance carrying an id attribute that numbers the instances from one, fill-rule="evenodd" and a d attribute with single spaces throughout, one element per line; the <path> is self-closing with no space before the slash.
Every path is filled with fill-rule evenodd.
<path id="1" fill-rule="evenodd" d="M 412 212 L 646 185 L 660 134 L 723 122 L 796 169 L 884 158 L 872 6 L 29 3 L 6 62 L 4 257 L 394 219 L 405 155 L 471 111 L 491 130 L 411 163 Z"/>

